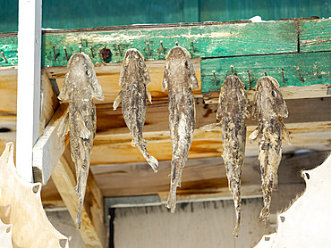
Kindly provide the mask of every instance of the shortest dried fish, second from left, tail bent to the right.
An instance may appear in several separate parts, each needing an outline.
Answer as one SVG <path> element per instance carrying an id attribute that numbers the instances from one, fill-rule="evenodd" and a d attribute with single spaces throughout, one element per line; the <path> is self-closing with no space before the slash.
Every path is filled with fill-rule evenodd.
<path id="1" fill-rule="evenodd" d="M 142 127 L 146 118 L 146 95 L 149 97 L 149 102 L 152 103 L 152 96 L 146 87 L 149 83 L 149 70 L 143 55 L 135 48 L 127 50 L 120 77 L 122 89 L 117 95 L 113 107 L 115 110 L 122 102 L 123 118 L 133 136 L 132 146 L 138 147 L 150 167 L 157 172 L 158 161 L 149 155 L 146 149 L 147 141 L 142 137 Z"/>

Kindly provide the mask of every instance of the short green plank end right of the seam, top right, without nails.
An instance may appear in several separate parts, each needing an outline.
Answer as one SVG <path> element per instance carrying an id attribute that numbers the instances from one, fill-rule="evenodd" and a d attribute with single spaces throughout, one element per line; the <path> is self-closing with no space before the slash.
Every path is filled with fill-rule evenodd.
<path id="1" fill-rule="evenodd" d="M 331 50 L 331 19 L 301 21 L 300 52 Z"/>

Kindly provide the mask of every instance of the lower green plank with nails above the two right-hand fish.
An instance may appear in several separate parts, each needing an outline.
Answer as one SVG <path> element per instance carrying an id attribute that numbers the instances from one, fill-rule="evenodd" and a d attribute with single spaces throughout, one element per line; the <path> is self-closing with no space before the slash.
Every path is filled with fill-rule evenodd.
<path id="1" fill-rule="evenodd" d="M 246 88 L 255 87 L 259 78 L 265 76 L 264 70 L 267 71 L 267 76 L 278 81 L 280 87 L 327 85 L 331 84 L 330 60 L 331 52 L 205 59 L 201 60 L 201 92 L 203 95 L 218 92 L 225 78 L 232 74 L 231 65 L 234 75 L 242 79 Z M 318 66 L 318 77 L 315 66 Z M 284 69 L 284 80 L 282 69 Z M 216 70 L 217 83 L 213 70 Z M 247 70 L 250 70 L 250 82 Z"/>

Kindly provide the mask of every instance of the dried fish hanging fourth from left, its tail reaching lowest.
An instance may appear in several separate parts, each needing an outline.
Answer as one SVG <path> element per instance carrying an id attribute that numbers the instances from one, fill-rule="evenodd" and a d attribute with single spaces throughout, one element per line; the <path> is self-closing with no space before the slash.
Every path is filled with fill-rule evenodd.
<path id="1" fill-rule="evenodd" d="M 249 101 L 245 85 L 236 76 L 225 79 L 218 100 L 216 119 L 220 120 L 223 138 L 223 160 L 229 189 L 233 195 L 233 203 L 237 216 L 233 235 L 238 236 L 241 220 L 241 178 L 245 158 L 246 118 Z"/>

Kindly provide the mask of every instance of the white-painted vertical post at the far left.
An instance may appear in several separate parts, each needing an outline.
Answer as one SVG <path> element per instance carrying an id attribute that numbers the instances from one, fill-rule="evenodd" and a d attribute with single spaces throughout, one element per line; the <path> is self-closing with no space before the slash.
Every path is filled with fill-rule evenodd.
<path id="1" fill-rule="evenodd" d="M 16 168 L 32 178 L 32 148 L 39 136 L 41 0 L 19 1 Z"/>

